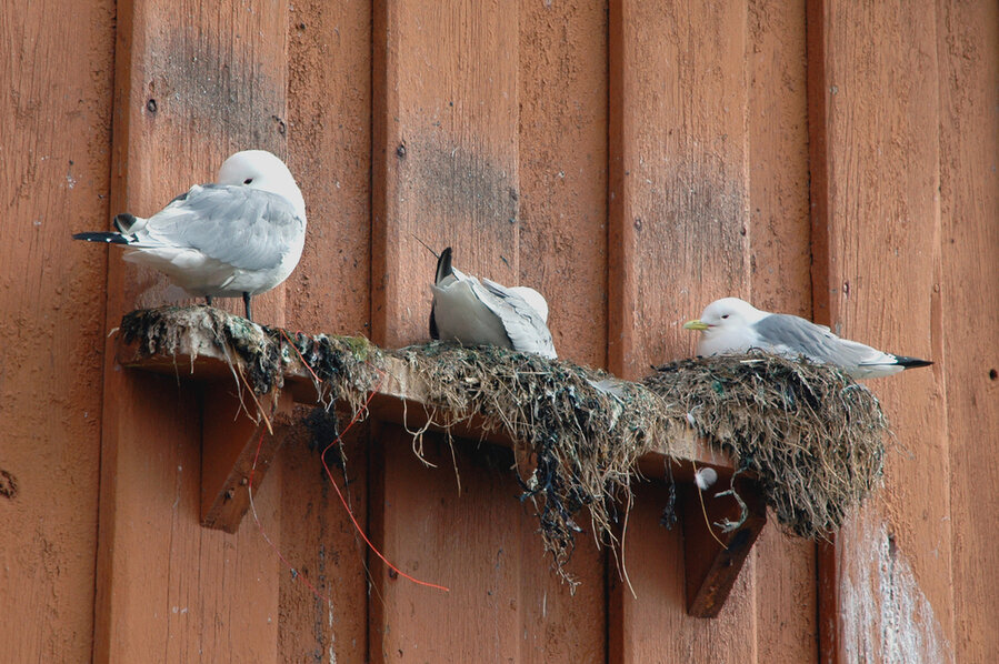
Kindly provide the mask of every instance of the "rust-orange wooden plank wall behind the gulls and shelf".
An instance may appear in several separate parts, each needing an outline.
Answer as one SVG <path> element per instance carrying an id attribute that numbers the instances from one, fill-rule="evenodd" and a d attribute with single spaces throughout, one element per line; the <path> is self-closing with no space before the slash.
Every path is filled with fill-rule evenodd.
<path id="1" fill-rule="evenodd" d="M 0 520 L 14 533 L 0 539 L 0 597 L 19 608 L 0 621 L 0 658 L 987 658 L 997 12 L 988 0 L 0 10 Z M 871 384 L 898 432 L 885 491 L 819 552 L 768 527 L 711 621 L 683 610 L 661 486 L 640 487 L 628 524 L 635 595 L 581 536 L 572 596 L 509 459 L 452 467 L 428 436 L 430 467 L 394 426 L 348 437 L 339 485 L 389 560 L 449 593 L 364 550 L 309 449 L 330 435 L 304 424 L 256 496 L 294 573 L 251 517 L 233 535 L 201 529 L 197 394 L 107 354 L 122 312 L 177 293 L 69 235 L 154 211 L 250 147 L 287 159 L 309 214 L 302 262 L 260 300 L 262 322 L 426 339 L 434 259 L 419 238 L 453 245 L 470 272 L 540 288 L 562 356 L 637 378 L 692 352 L 682 321 L 742 295 L 937 362 Z"/>

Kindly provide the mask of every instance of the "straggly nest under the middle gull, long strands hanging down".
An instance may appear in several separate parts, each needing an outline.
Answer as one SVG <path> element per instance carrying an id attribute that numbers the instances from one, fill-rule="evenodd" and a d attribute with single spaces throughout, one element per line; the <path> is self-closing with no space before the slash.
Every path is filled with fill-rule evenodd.
<path id="1" fill-rule="evenodd" d="M 533 460 L 520 476 L 536 501 L 545 549 L 563 571 L 578 513 L 587 509 L 598 543 L 613 541 L 617 501 L 629 491 L 636 462 L 669 440 L 666 403 L 645 386 L 566 361 L 499 348 L 431 343 L 393 351 L 429 384 L 431 420 L 477 417 L 517 441 Z M 446 416 L 446 420 L 443 419 Z"/>

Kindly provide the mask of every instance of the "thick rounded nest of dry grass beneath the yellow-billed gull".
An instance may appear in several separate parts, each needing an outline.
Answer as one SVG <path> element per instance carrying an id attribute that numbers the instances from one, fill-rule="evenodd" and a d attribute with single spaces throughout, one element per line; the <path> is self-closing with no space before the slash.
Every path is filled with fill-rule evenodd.
<path id="1" fill-rule="evenodd" d="M 758 479 L 791 532 L 828 535 L 879 484 L 888 421 L 838 369 L 753 351 L 656 370 L 645 384 Z"/>

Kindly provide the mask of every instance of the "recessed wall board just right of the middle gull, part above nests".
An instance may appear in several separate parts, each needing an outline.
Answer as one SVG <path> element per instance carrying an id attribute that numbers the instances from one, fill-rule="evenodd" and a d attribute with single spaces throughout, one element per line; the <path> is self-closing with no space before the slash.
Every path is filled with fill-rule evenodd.
<path id="1" fill-rule="evenodd" d="M 607 365 L 607 7 L 520 3 L 520 281 L 559 355 Z"/>

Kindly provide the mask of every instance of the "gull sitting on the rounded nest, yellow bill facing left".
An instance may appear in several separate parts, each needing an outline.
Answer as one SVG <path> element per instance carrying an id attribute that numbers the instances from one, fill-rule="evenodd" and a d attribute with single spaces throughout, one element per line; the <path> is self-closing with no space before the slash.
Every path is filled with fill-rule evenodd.
<path id="1" fill-rule="evenodd" d="M 711 302 L 700 319 L 683 326 L 701 331 L 697 344 L 701 356 L 760 349 L 786 358 L 805 355 L 812 362 L 835 364 L 855 379 L 873 379 L 932 364 L 840 339 L 825 325 L 787 313 L 760 311 L 738 298 Z"/>

